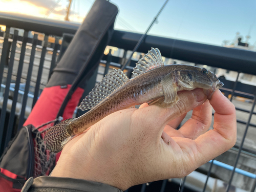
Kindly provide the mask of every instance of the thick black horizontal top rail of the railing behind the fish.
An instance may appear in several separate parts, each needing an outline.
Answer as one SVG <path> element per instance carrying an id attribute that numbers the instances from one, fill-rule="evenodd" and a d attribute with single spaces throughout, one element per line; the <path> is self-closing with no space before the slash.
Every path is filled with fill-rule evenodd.
<path id="1" fill-rule="evenodd" d="M 0 24 L 57 36 L 62 36 L 62 33 L 74 34 L 80 26 L 3 12 L 0 12 Z M 133 50 L 141 36 L 142 34 L 139 33 L 115 30 L 109 45 L 124 50 Z M 256 52 L 152 35 L 147 35 L 138 48 L 138 52 L 146 53 L 151 47 L 160 49 L 164 57 L 256 75 Z"/>

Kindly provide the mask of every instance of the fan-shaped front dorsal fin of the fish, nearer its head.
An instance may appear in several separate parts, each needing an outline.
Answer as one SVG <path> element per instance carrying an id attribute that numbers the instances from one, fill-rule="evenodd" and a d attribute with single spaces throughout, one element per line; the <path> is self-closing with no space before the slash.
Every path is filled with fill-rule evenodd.
<path id="1" fill-rule="evenodd" d="M 133 75 L 144 73 L 148 70 L 154 69 L 156 67 L 163 66 L 163 59 L 159 49 L 151 48 L 147 54 L 145 54 L 137 63 L 136 67 L 133 69 Z"/>

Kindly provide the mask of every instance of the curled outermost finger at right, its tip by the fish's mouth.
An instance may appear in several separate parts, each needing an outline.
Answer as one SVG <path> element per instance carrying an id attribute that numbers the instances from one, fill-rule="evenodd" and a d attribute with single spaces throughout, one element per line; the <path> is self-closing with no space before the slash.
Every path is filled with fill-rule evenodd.
<path id="1" fill-rule="evenodd" d="M 237 118 L 234 105 L 218 90 L 210 104 L 215 110 L 214 130 L 209 130 L 195 141 L 204 162 L 229 150 L 237 140 Z"/>

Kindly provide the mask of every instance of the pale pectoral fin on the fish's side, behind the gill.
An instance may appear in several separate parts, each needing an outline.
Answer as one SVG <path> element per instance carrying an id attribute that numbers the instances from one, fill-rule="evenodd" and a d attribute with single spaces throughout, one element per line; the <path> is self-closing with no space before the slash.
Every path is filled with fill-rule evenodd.
<path id="1" fill-rule="evenodd" d="M 179 101 L 174 72 L 169 73 L 162 79 L 162 88 L 165 103 L 172 103 L 174 105 Z"/>

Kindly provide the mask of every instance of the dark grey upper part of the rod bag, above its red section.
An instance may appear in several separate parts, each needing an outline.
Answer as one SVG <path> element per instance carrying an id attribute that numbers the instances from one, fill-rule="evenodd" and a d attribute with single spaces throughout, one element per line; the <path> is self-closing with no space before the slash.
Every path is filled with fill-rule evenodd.
<path id="1" fill-rule="evenodd" d="M 63 54 L 47 87 L 64 86 L 77 81 L 79 87 L 84 76 L 96 69 L 105 46 L 113 34 L 113 26 L 118 9 L 105 0 L 96 0 L 84 22 L 77 30 L 65 54 Z"/>

